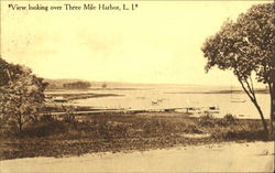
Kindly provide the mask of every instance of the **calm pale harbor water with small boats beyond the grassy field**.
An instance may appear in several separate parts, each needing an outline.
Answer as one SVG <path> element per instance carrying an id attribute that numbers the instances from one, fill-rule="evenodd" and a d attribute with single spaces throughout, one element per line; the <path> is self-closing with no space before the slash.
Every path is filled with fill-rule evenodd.
<path id="1" fill-rule="evenodd" d="M 258 119 L 256 108 L 245 94 L 186 94 L 186 91 L 208 91 L 213 88 L 179 87 L 179 88 L 140 88 L 134 90 L 90 90 L 85 93 L 118 94 L 119 97 L 99 97 L 75 100 L 76 106 L 91 106 L 95 108 L 111 109 L 165 109 L 184 107 L 218 107 L 223 117 L 232 113 L 239 118 Z M 244 102 L 232 102 L 233 99 L 245 100 Z M 257 100 L 262 107 L 265 118 L 270 117 L 270 95 L 257 94 Z M 152 104 L 152 101 L 157 104 Z"/>

